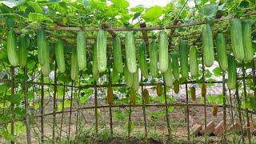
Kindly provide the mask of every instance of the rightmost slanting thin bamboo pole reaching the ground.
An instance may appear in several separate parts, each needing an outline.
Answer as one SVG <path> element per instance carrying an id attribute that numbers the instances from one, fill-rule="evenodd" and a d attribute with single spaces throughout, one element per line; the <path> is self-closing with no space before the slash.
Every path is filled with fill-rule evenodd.
<path id="1" fill-rule="evenodd" d="M 244 63 L 243 63 L 244 65 Z M 243 77 L 246 77 L 246 70 L 245 70 L 245 67 L 242 66 L 242 76 Z M 245 96 L 245 101 L 247 101 L 247 93 L 246 93 L 246 80 L 243 79 L 242 80 L 242 85 L 243 85 L 243 94 Z M 249 113 L 248 113 L 248 108 L 246 108 L 246 130 L 247 130 L 247 137 L 248 137 L 248 142 L 249 144 L 251 144 L 251 138 L 250 138 L 250 123 L 249 123 Z"/>

